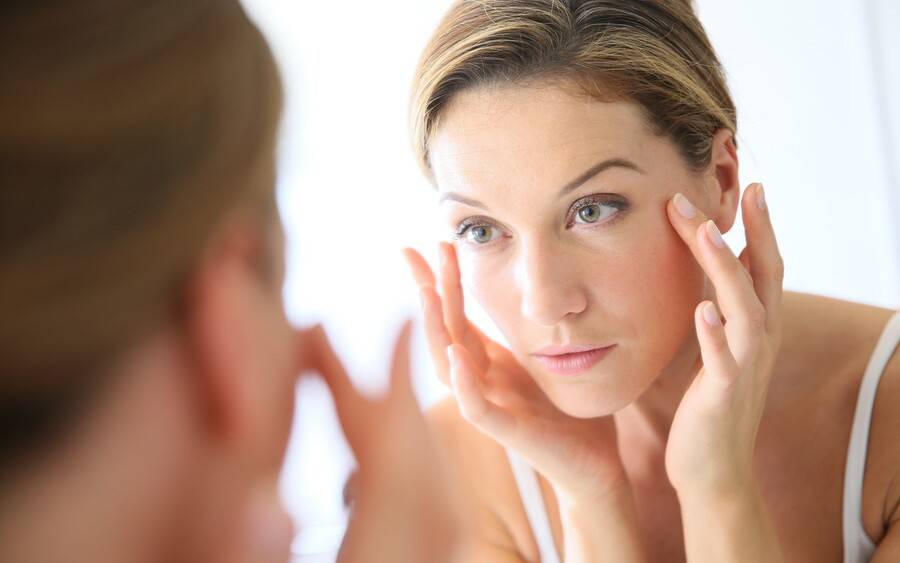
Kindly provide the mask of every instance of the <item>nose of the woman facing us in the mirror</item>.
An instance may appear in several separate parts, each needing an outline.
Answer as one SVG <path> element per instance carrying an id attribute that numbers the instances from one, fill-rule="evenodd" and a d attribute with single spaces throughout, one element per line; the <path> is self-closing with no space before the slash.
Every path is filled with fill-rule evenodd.
<path id="1" fill-rule="evenodd" d="M 577 258 L 546 241 L 523 245 L 516 268 L 522 315 L 553 326 L 587 307 Z"/>

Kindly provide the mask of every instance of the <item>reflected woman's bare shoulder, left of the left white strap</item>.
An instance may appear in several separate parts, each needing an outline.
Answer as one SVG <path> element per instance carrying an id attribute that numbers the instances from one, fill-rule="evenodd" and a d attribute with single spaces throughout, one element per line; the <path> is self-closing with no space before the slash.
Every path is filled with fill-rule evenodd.
<path id="1" fill-rule="evenodd" d="M 477 559 L 518 560 L 501 554 L 522 553 L 527 558 L 536 552 L 503 447 L 466 422 L 453 397 L 428 409 L 426 418 L 449 474 L 461 488 L 460 509 L 476 536 Z"/>

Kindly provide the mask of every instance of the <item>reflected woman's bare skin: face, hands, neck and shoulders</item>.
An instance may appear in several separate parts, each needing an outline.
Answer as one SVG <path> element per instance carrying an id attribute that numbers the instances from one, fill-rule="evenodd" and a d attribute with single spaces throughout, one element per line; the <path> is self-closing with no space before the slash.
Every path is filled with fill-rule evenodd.
<path id="1" fill-rule="evenodd" d="M 782 292 L 763 190 L 739 197 L 731 134 L 718 132 L 709 165 L 692 170 L 634 105 L 543 83 L 458 94 L 430 147 L 448 231 L 469 217 L 490 231 L 442 247 L 436 276 L 407 252 L 432 356 L 454 391 L 431 420 L 477 522 L 467 560 L 537 558 L 502 444 L 541 473 L 567 561 L 840 561 L 856 390 L 892 312 Z M 560 196 L 611 158 L 642 173 L 608 168 Z M 627 211 L 567 220 L 573 204 L 601 193 Z M 689 218 L 678 193 L 693 204 Z M 740 257 L 712 244 L 739 204 Z M 508 350 L 465 319 L 463 286 Z M 707 307 L 724 325 L 705 321 Z M 550 344 L 609 343 L 574 378 L 533 356 Z M 900 448 L 888 438 L 900 417 L 885 407 L 898 393 L 894 360 L 864 487 L 875 561 L 900 553 L 890 533 Z M 603 538 L 604 526 L 615 533 Z"/>

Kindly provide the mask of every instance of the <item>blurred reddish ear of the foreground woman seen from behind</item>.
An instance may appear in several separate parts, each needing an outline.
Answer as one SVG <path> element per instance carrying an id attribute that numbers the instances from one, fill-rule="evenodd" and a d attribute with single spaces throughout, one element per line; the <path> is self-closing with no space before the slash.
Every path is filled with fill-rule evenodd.
<path id="1" fill-rule="evenodd" d="M 207 245 L 188 281 L 183 315 L 198 412 L 210 436 L 228 443 L 253 440 L 258 416 L 252 334 L 259 322 L 254 271 L 259 238 L 246 225 L 223 227 Z"/>

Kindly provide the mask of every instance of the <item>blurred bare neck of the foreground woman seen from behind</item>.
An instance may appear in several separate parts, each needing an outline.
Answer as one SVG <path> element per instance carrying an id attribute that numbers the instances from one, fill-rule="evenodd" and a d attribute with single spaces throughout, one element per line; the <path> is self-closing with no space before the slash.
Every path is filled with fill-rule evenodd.
<path id="1" fill-rule="evenodd" d="M 172 366 L 143 367 L 113 377 L 58 445 L 4 483 L 0 559 L 176 560 L 199 459 L 191 399 Z"/>

